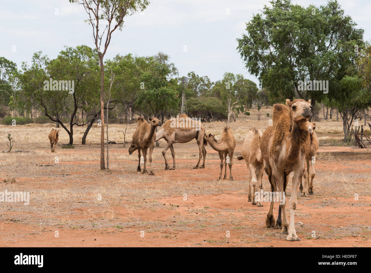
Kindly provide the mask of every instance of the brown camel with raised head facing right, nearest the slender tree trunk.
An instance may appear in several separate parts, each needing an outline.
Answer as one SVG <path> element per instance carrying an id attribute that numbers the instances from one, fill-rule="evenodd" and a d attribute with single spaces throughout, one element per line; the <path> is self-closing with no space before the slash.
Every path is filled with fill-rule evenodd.
<path id="1" fill-rule="evenodd" d="M 150 175 L 154 175 L 152 171 L 152 151 L 155 147 L 155 139 L 156 139 L 156 132 L 155 129 L 157 126 L 161 126 L 162 123 L 157 118 L 150 118 L 150 123 L 142 118 L 141 116 L 138 117 L 138 126 L 133 134 L 133 140 L 131 142 L 131 145 L 129 147 L 129 154 L 132 154 L 136 149 L 138 149 L 138 168 L 137 171 L 141 171 L 140 167 L 140 151 L 143 153 L 144 157 L 144 167 L 142 174 L 148 173 L 146 168 L 146 162 L 147 162 L 147 150 L 150 148 Z"/>

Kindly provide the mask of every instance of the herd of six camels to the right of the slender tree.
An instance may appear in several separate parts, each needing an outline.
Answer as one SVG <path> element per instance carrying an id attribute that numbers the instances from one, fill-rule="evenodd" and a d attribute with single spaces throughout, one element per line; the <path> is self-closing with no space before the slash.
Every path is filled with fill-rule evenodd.
<path id="1" fill-rule="evenodd" d="M 285 194 L 283 194 L 283 200 L 280 200 L 277 221 L 275 221 L 273 217 L 274 200 L 270 203 L 269 213 L 266 218 L 266 226 L 268 228 L 282 228 L 281 233 L 288 234 L 286 237 L 288 241 L 300 241 L 300 238 L 296 235 L 294 226 L 299 183 L 302 196 L 308 196 L 308 193 L 313 194 L 313 178 L 315 176 L 314 165 L 319 143 L 314 131 L 315 122 L 312 123 L 308 121 L 311 116 L 310 100 L 304 101 L 302 99 L 295 99 L 291 102 L 289 99 L 286 99 L 286 105 L 273 105 L 272 125 L 268 126 L 264 133 L 256 128 L 251 128 L 247 132 L 246 139 L 243 143 L 241 156 L 237 157 L 238 160 L 244 159 L 249 170 L 248 201 L 258 207 L 262 207 L 263 205 L 259 198 L 252 198 L 251 185 L 253 187 L 252 192 L 255 195 L 256 191 L 262 188 L 263 170 L 268 175 L 272 193 L 277 191 L 279 193 L 285 193 L 288 175 L 290 172 L 293 172 L 292 194 L 289 200 L 290 223 L 286 217 Z M 161 121 L 157 118 L 150 118 L 149 123 L 142 117 L 138 118 L 138 127 L 134 132 L 129 147 L 129 154 L 138 150 L 139 162 L 137 171 L 141 171 L 140 159 L 142 151 L 144 157 L 142 174 L 147 173 L 146 162 L 147 150 L 149 148 L 150 175 L 154 174 L 152 170 L 152 151 L 156 141 L 162 138 L 167 141 L 167 145 L 164 151 L 162 151 L 162 155 L 165 159 L 165 170 L 175 170 L 175 152 L 173 144 L 186 143 L 192 139 L 196 139 L 200 154 L 194 169 L 205 167 L 205 146 L 209 143 L 210 146 L 219 153 L 219 180 L 221 179 L 224 166 L 224 179 L 226 179 L 227 164 L 229 166 L 230 180 L 233 180 L 232 158 L 234 148 L 236 147 L 236 139 L 233 136 L 232 129 L 230 127 L 224 128 L 221 139 L 217 141 L 213 134 L 207 135 L 205 133 L 205 128 L 200 121 L 194 121 L 185 114 L 180 115 L 180 118 L 189 121 L 185 122 L 185 124 L 192 126 L 174 127 L 171 126 L 170 119 L 162 125 Z M 197 124 L 194 124 L 195 122 Z M 155 132 L 157 126 L 162 126 L 162 128 L 158 132 Z M 165 155 L 169 148 L 173 156 L 172 168 L 168 165 Z M 201 157 L 203 157 L 203 164 L 199 167 Z M 305 165 L 307 166 L 306 171 Z"/>

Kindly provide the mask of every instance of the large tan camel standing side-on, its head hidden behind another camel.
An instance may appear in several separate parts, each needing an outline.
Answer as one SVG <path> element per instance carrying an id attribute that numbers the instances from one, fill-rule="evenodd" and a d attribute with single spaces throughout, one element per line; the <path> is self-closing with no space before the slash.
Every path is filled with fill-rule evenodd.
<path id="1" fill-rule="evenodd" d="M 203 140 L 205 135 L 205 128 L 202 126 L 201 122 L 189 118 L 186 114 L 181 114 L 177 118 L 168 119 L 164 126 L 156 133 L 156 141 L 159 141 L 161 138 L 167 141 L 167 145 L 162 151 L 162 156 L 165 159 L 165 170 L 175 170 L 175 152 L 174 152 L 174 143 L 187 143 L 192 139 L 197 140 L 198 149 L 200 151 L 198 156 L 198 162 L 194 169 L 198 169 L 200 164 L 201 157 L 204 158 L 203 164 L 200 167 L 201 169 L 205 168 L 205 158 L 206 158 L 206 149 L 205 145 L 207 142 Z M 171 155 L 173 157 L 173 167 L 169 167 L 169 164 L 166 160 L 166 151 L 170 148 Z"/>

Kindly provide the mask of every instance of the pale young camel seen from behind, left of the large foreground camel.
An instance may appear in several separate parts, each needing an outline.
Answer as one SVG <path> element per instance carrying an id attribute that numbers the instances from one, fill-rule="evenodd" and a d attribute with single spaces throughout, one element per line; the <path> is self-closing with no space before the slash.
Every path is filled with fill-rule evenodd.
<path id="1" fill-rule="evenodd" d="M 238 160 L 245 159 L 246 166 L 249 169 L 249 202 L 252 202 L 253 205 L 257 204 L 257 207 L 263 207 L 260 203 L 260 194 L 255 198 L 256 190 L 260 190 L 262 185 L 263 178 L 263 156 L 260 151 L 260 138 L 263 133 L 260 130 L 257 130 L 255 127 L 251 128 L 247 132 L 247 136 L 242 145 L 241 156 L 237 157 Z M 251 184 L 253 185 L 253 195 L 254 198 L 251 198 Z M 257 191 L 259 193 L 259 191 Z"/>

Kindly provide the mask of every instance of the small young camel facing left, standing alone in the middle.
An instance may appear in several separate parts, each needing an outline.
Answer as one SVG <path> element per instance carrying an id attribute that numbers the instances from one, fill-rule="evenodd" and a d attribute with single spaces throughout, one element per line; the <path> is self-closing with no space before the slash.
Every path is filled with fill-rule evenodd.
<path id="1" fill-rule="evenodd" d="M 236 147 L 236 139 L 233 136 L 232 128 L 225 127 L 223 129 L 223 133 L 220 138 L 220 142 L 218 143 L 215 139 L 215 135 L 209 134 L 204 135 L 204 140 L 207 141 L 211 148 L 213 148 L 215 151 L 219 152 L 219 158 L 220 158 L 220 175 L 219 179 L 221 178 L 221 174 L 223 173 L 223 165 L 225 165 L 225 171 L 224 171 L 224 178 L 227 178 L 227 163 L 229 166 L 229 180 L 233 181 L 232 177 L 232 158 L 233 158 L 233 152 L 234 147 Z M 227 155 L 229 158 L 227 158 Z M 225 161 L 225 164 L 223 164 L 223 161 Z"/>

